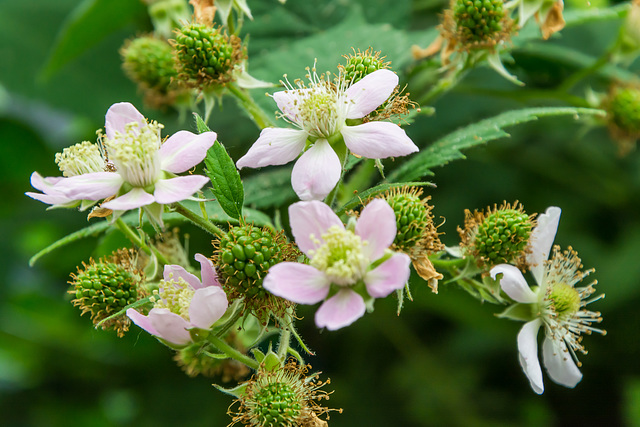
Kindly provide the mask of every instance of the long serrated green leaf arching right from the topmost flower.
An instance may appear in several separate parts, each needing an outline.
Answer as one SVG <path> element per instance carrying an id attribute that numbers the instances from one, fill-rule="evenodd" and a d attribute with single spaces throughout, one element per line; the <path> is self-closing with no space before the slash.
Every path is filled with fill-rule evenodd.
<path id="1" fill-rule="evenodd" d="M 439 139 L 403 163 L 388 176 L 390 181 L 409 181 L 433 175 L 431 169 L 447 163 L 465 159 L 461 150 L 486 144 L 494 139 L 510 136 L 503 128 L 537 120 L 539 117 L 580 114 L 604 116 L 605 112 L 591 108 L 539 107 L 507 111 L 495 117 L 482 120 Z"/>

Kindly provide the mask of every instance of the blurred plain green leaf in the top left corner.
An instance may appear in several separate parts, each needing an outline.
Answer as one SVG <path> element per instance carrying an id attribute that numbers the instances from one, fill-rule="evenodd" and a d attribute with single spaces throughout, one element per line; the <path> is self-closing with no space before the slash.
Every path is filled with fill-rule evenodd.
<path id="1" fill-rule="evenodd" d="M 67 18 L 58 33 L 41 77 L 48 79 L 63 65 L 78 57 L 114 31 L 145 12 L 131 0 L 85 0 Z"/>

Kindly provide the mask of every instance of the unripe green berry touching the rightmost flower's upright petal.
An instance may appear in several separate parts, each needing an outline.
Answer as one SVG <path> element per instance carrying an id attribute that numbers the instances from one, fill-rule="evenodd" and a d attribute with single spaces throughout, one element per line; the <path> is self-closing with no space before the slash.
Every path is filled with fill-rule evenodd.
<path id="1" fill-rule="evenodd" d="M 487 212 L 465 210 L 465 228 L 458 227 L 465 255 L 476 259 L 479 267 L 498 264 L 524 266 L 526 248 L 534 227 L 533 216 L 517 201 L 511 206 L 495 205 Z"/>

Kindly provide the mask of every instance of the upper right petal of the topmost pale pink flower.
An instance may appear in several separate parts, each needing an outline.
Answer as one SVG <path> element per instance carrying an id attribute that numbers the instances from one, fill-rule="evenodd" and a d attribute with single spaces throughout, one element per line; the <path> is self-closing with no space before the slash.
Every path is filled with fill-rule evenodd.
<path id="1" fill-rule="evenodd" d="M 350 99 L 348 119 L 361 119 L 378 108 L 398 86 L 398 75 L 390 70 L 378 70 L 366 75 L 347 89 Z"/>

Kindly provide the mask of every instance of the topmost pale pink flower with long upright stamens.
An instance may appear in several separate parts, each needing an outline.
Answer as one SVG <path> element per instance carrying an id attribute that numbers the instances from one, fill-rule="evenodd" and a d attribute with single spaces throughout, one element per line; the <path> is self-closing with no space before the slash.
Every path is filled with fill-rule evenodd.
<path id="1" fill-rule="evenodd" d="M 374 71 L 349 86 L 340 76 L 337 85 L 309 74 L 310 85 L 288 85 L 273 99 L 282 117 L 298 129 L 267 128 L 237 162 L 259 168 L 296 161 L 291 184 L 301 200 L 326 197 L 340 180 L 342 164 L 335 144 L 346 144 L 354 154 L 370 159 L 406 156 L 418 151 L 405 131 L 390 122 L 371 121 L 347 126 L 348 119 L 361 119 L 383 104 L 398 85 L 389 70 Z"/>

